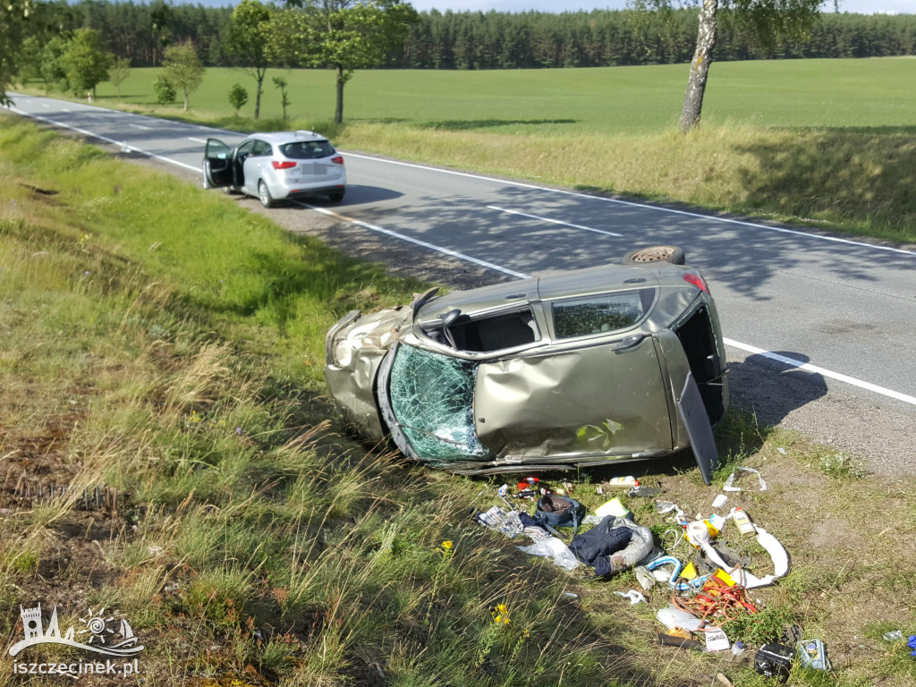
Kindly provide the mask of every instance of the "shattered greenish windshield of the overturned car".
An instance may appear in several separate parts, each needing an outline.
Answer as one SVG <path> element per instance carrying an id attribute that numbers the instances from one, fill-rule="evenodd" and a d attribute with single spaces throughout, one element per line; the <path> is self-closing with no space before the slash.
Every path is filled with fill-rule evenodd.
<path id="1" fill-rule="evenodd" d="M 488 455 L 474 432 L 476 365 L 409 345 L 391 367 L 391 409 L 420 458 L 464 461 Z"/>

